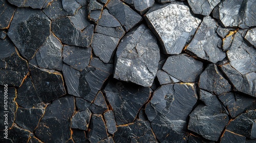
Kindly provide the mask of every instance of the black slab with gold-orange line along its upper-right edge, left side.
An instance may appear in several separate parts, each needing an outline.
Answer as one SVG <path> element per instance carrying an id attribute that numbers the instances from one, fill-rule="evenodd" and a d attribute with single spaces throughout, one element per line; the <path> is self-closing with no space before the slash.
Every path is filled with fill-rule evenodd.
<path id="1" fill-rule="evenodd" d="M 30 65 L 30 74 L 36 93 L 42 102 L 49 103 L 66 94 L 64 81 L 59 72 Z"/>

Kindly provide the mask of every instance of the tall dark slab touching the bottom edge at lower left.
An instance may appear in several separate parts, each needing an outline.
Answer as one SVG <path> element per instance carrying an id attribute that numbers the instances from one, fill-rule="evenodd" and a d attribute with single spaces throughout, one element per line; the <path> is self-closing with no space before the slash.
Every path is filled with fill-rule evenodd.
<path id="1" fill-rule="evenodd" d="M 46 107 L 35 135 L 43 142 L 66 142 L 71 136 L 70 120 L 75 111 L 75 99 L 66 96 Z M 51 135 L 49 135 L 51 134 Z"/>

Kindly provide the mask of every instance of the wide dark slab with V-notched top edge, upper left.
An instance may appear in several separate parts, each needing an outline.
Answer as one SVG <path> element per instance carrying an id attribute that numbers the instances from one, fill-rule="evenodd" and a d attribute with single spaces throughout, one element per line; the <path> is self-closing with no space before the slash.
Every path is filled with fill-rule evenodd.
<path id="1" fill-rule="evenodd" d="M 85 16 L 83 18 L 86 18 Z M 61 42 L 81 47 L 89 47 L 93 36 L 93 25 L 82 31 L 72 23 L 71 18 L 61 17 L 52 21 L 51 30 Z M 67 29 L 69 29 L 67 31 Z"/>

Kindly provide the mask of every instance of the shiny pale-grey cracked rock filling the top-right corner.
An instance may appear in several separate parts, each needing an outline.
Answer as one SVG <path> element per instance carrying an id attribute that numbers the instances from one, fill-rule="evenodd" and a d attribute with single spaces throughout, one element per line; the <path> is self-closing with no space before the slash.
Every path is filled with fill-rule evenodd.
<path id="1" fill-rule="evenodd" d="M 219 19 L 224 27 L 240 27 L 242 29 L 256 26 L 254 0 L 223 1 L 212 15 Z"/>

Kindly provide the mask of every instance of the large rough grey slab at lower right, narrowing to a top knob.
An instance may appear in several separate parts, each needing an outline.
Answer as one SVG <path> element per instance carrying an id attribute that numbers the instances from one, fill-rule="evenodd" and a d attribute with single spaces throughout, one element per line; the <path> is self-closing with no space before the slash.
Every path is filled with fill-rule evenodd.
<path id="1" fill-rule="evenodd" d="M 200 100 L 204 104 L 199 104 L 189 114 L 188 130 L 217 141 L 229 122 L 228 115 L 214 94 L 200 90 Z"/>

